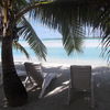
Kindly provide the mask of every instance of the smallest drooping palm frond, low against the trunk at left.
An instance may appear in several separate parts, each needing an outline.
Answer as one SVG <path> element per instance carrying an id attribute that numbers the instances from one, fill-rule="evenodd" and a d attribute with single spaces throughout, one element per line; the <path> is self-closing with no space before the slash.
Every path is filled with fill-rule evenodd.
<path id="1" fill-rule="evenodd" d="M 21 53 L 23 53 L 26 56 L 26 58 L 30 58 L 30 54 L 19 42 L 13 41 L 13 47 L 16 51 L 20 51 Z"/>

